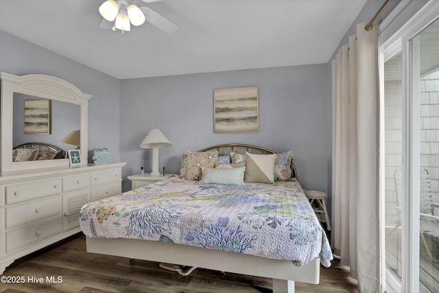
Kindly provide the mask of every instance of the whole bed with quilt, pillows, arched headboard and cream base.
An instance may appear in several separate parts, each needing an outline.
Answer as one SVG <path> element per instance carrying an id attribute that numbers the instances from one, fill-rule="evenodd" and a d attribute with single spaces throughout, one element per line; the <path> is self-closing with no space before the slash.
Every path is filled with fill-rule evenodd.
<path id="1" fill-rule="evenodd" d="M 273 292 L 294 292 L 294 281 L 318 283 L 320 263 L 332 259 L 297 178 L 292 152 L 246 144 L 187 152 L 179 177 L 84 205 L 87 251 L 270 277 Z"/>

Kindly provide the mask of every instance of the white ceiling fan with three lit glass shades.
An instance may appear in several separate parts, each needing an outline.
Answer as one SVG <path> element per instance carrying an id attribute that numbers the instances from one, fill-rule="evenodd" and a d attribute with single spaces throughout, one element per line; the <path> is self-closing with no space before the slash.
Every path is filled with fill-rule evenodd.
<path id="1" fill-rule="evenodd" d="M 142 0 L 152 3 L 162 0 Z M 106 0 L 99 6 L 99 13 L 104 17 L 99 27 L 120 30 L 122 34 L 131 30 L 131 25 L 139 26 L 148 21 L 159 29 L 170 34 L 178 29 L 178 25 L 165 19 L 151 8 L 138 7 L 132 0 Z"/>

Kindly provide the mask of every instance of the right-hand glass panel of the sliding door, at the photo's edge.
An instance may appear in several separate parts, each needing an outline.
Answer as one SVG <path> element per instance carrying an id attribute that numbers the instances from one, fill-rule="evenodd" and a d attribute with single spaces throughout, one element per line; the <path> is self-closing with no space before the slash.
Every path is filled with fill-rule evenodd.
<path id="1" fill-rule="evenodd" d="M 419 242 L 419 292 L 439 292 L 439 21 L 412 38 L 410 49 L 412 117 L 418 128 L 412 136 L 419 162 L 412 223 Z"/>

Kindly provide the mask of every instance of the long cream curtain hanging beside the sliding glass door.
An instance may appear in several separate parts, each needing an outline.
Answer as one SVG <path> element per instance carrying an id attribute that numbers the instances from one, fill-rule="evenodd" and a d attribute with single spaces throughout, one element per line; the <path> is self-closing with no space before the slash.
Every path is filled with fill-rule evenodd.
<path id="1" fill-rule="evenodd" d="M 359 292 L 383 292 L 379 235 L 378 25 L 349 38 L 333 60 L 331 244 Z"/>

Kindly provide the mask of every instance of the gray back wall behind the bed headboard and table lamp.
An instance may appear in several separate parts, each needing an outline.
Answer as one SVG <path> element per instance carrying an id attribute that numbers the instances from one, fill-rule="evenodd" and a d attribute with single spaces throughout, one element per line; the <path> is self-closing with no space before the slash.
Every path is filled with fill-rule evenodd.
<path id="1" fill-rule="evenodd" d="M 151 171 L 152 151 L 139 147 L 159 128 L 173 143 L 159 150 L 159 169 L 180 171 L 180 154 L 220 143 L 294 151 L 300 183 L 327 191 L 331 156 L 331 84 L 327 65 L 251 69 L 121 80 L 123 176 Z M 259 132 L 213 133 L 213 89 L 259 87 Z M 125 180 L 124 190 L 130 189 Z"/>

